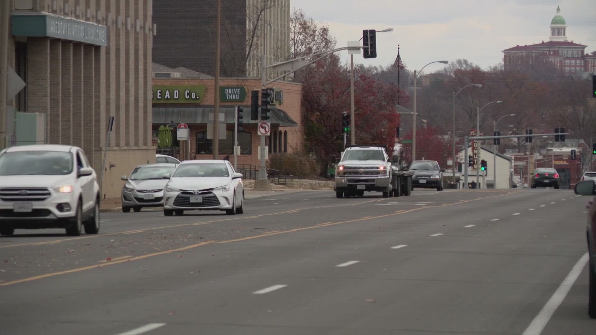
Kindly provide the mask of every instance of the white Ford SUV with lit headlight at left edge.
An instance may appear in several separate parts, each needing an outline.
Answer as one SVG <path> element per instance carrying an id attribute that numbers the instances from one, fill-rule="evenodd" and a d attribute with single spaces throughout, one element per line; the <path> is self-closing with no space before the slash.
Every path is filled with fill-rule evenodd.
<path id="1" fill-rule="evenodd" d="M 0 234 L 14 229 L 100 230 L 100 187 L 83 150 L 22 145 L 0 152 Z"/>

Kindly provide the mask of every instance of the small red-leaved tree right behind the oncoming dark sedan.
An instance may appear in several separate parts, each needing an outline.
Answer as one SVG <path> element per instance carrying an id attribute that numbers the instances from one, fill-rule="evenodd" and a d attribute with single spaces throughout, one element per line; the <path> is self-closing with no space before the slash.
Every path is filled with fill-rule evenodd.
<path id="1" fill-rule="evenodd" d="M 416 129 L 416 159 L 436 160 L 439 166 L 446 167 L 448 157 L 452 156 L 452 144 L 445 131 L 428 127 Z M 412 140 L 412 132 L 403 137 L 404 141 Z M 412 143 L 405 143 L 402 147 L 402 159 L 412 162 Z"/>

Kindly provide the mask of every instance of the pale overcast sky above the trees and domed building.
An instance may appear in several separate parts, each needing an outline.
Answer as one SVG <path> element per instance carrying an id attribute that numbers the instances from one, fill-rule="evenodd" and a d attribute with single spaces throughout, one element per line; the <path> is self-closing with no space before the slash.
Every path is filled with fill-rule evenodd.
<path id="1" fill-rule="evenodd" d="M 355 55 L 355 63 L 366 65 L 392 64 L 399 44 L 410 70 L 457 58 L 493 66 L 504 49 L 548 41 L 557 5 L 567 39 L 596 51 L 596 0 L 291 0 L 291 5 L 327 23 L 338 47 L 361 38 L 363 29 L 393 27 L 392 33 L 377 33 L 377 58 Z M 349 60 L 346 51 L 342 57 Z"/>

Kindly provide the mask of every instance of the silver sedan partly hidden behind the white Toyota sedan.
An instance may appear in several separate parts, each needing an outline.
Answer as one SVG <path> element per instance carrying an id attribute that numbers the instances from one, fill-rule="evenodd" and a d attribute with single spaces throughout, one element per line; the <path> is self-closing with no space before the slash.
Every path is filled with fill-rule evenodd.
<path id="1" fill-rule="evenodd" d="M 143 164 L 132 170 L 130 176 L 121 176 L 126 181 L 122 187 L 122 212 L 163 206 L 163 188 L 168 182 L 163 176 L 175 169 L 176 164 L 170 163 Z"/>

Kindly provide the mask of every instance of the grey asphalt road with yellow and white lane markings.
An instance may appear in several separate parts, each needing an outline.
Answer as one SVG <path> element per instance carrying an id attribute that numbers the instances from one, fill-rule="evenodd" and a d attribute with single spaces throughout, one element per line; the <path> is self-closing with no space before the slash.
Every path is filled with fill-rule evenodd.
<path id="1" fill-rule="evenodd" d="M 235 216 L 103 213 L 99 235 L 17 230 L 0 238 L 0 333 L 596 334 L 587 200 L 305 191 Z"/>

